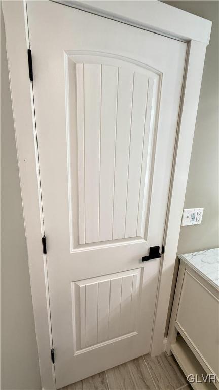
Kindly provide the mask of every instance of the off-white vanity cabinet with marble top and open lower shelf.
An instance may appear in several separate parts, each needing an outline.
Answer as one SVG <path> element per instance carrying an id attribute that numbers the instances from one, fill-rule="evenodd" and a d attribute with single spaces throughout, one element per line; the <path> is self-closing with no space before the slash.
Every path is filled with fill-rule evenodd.
<path id="1" fill-rule="evenodd" d="M 195 389 L 219 388 L 218 253 L 216 248 L 179 256 L 167 352 L 186 375 L 198 375 L 202 383 L 191 383 Z M 217 383 L 209 378 L 204 383 L 206 373 L 215 375 Z"/>

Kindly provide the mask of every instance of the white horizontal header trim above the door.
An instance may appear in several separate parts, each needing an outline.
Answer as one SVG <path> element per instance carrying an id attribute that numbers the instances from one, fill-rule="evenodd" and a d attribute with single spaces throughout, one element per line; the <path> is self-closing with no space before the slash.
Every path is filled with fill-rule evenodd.
<path id="1" fill-rule="evenodd" d="M 212 22 L 160 1 L 51 0 L 179 41 L 208 44 Z"/>

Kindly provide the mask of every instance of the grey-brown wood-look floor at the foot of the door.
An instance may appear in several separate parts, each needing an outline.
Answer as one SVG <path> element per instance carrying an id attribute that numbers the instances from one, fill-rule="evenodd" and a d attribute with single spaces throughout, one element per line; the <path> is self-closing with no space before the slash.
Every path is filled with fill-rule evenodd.
<path id="1" fill-rule="evenodd" d="M 173 356 L 165 352 L 121 364 L 90 376 L 61 390 L 190 390 L 185 375 Z"/>

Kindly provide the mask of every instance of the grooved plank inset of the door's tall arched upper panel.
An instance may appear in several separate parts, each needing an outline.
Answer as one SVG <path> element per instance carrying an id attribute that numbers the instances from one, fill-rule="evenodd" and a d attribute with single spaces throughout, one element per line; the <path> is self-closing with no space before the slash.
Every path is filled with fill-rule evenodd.
<path id="1" fill-rule="evenodd" d="M 154 81 L 93 63 L 78 63 L 76 79 L 78 242 L 144 236 Z"/>

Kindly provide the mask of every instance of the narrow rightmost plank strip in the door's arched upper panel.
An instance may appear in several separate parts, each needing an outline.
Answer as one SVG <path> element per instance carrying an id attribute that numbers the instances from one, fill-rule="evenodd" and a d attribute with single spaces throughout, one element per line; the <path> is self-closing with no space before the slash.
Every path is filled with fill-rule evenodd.
<path id="1" fill-rule="evenodd" d="M 145 131 L 142 153 L 142 166 L 141 166 L 141 179 L 140 179 L 140 194 L 138 202 L 138 220 L 137 220 L 137 236 L 144 235 L 145 221 L 145 205 L 148 202 L 148 190 L 149 190 L 149 175 L 150 175 L 150 156 L 152 148 L 149 150 L 149 144 L 151 146 L 151 118 L 152 118 L 152 99 L 153 99 L 154 80 L 149 78 L 148 84 L 148 99 L 147 109 L 145 117 Z M 148 153 L 149 151 L 149 153 Z"/>

